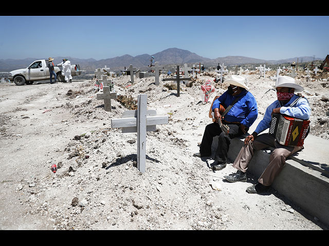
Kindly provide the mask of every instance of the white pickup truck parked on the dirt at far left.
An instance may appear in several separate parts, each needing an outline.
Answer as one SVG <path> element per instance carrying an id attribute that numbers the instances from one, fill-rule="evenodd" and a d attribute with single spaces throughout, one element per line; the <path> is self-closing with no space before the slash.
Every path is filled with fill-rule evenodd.
<path id="1" fill-rule="evenodd" d="M 64 76 L 62 75 L 63 68 L 61 66 L 54 66 L 53 68 L 57 75 L 57 80 L 64 82 Z M 71 65 L 71 75 L 77 76 L 80 74 L 79 64 Z M 35 60 L 27 68 L 11 71 L 8 78 L 10 81 L 14 81 L 17 86 L 23 86 L 24 84 L 32 85 L 34 81 L 38 80 L 50 80 L 48 60 Z"/>

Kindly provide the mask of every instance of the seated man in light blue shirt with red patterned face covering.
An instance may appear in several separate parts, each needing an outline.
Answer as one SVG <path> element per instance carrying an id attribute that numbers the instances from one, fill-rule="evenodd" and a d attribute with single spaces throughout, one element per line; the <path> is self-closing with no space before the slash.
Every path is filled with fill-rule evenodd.
<path id="1" fill-rule="evenodd" d="M 295 84 L 295 79 L 288 76 L 280 76 L 276 85 L 278 100 L 275 100 L 267 107 L 264 118 L 259 122 L 255 131 L 246 137 L 245 146 L 242 147 L 239 154 L 235 158 L 233 167 L 237 172 L 224 176 L 228 181 L 247 181 L 246 171 L 249 162 L 255 150 L 261 150 L 268 147 L 274 147 L 275 150 L 270 154 L 269 164 L 265 171 L 258 179 L 257 185 L 247 188 L 248 193 L 266 192 L 273 180 L 278 176 L 285 165 L 286 158 L 295 152 L 303 149 L 303 147 L 283 146 L 268 133 L 258 135 L 269 128 L 271 115 L 273 113 L 281 113 L 294 118 L 308 120 L 310 116 L 310 108 L 307 99 L 301 97 L 295 105 L 290 105 L 299 98 L 294 92 L 301 92 L 303 87 Z"/>

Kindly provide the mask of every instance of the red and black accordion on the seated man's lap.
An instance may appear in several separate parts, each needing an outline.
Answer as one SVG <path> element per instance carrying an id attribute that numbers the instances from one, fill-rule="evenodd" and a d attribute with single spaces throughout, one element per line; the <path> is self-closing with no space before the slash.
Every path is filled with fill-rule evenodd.
<path id="1" fill-rule="evenodd" d="M 268 134 L 284 146 L 303 146 L 309 132 L 309 120 L 272 114 Z"/>

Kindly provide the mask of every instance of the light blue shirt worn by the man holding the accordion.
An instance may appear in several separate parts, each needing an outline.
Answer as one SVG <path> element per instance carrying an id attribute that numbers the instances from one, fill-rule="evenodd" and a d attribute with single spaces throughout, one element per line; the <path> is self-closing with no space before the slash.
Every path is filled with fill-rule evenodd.
<path id="1" fill-rule="evenodd" d="M 291 97 L 288 103 L 285 104 L 283 107 L 281 107 L 279 100 L 274 101 L 270 106 L 267 107 L 264 118 L 259 122 L 255 132 L 259 134 L 269 128 L 273 109 L 280 107 L 281 114 L 286 114 L 298 119 L 309 119 L 310 107 L 306 98 L 300 98 L 297 104 L 295 104 L 293 107 L 289 107 L 290 104 L 292 104 L 298 97 L 298 95 L 294 94 L 294 96 Z"/>

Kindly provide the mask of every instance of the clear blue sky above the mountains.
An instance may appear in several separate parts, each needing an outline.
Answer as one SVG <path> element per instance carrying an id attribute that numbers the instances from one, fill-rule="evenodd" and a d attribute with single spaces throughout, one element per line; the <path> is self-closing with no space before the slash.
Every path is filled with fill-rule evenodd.
<path id="1" fill-rule="evenodd" d="M 189 50 L 265 60 L 329 54 L 329 16 L 0 16 L 0 59 Z"/>

